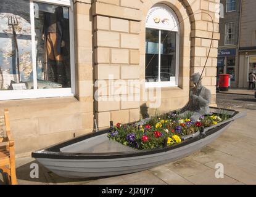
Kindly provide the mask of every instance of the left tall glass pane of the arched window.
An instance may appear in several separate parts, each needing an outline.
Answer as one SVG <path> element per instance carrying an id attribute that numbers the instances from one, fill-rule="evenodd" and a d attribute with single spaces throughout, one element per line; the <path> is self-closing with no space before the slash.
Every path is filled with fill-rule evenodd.
<path id="1" fill-rule="evenodd" d="M 146 28 L 146 81 L 159 78 L 159 30 Z"/>

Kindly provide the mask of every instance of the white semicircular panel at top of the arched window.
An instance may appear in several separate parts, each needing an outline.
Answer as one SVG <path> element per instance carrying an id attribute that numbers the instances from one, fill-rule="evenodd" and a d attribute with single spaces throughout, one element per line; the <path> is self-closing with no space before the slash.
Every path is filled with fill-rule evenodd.
<path id="1" fill-rule="evenodd" d="M 158 4 L 149 10 L 146 18 L 147 28 L 178 31 L 178 18 L 173 10 L 164 4 Z"/>

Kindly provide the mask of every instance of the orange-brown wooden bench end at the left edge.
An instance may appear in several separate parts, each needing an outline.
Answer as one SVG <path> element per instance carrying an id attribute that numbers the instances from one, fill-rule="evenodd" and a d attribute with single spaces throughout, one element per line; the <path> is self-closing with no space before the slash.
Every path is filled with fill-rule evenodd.
<path id="1" fill-rule="evenodd" d="M 4 131 L 6 131 L 5 135 Z M 17 184 L 14 140 L 10 135 L 8 110 L 4 110 L 4 116 L 0 116 L 0 169 L 7 174 L 7 180 L 10 184 Z"/>

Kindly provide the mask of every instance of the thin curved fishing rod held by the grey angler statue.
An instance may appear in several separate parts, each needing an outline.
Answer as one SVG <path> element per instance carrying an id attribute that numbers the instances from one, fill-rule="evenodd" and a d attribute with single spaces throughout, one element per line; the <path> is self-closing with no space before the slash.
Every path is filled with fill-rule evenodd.
<path id="1" fill-rule="evenodd" d="M 209 13 L 207 13 L 207 12 L 197 12 L 197 13 L 195 13 L 195 14 L 191 14 L 191 15 L 189 15 L 188 17 L 186 17 L 186 18 L 184 18 L 183 20 L 181 20 L 181 22 L 179 22 L 177 25 L 175 25 L 175 26 L 167 33 L 167 35 L 165 36 L 165 38 L 164 38 L 163 41 L 162 41 L 162 43 L 163 43 L 163 42 L 165 41 L 165 39 L 167 39 L 168 34 L 169 34 L 172 30 L 174 30 L 174 28 L 176 28 L 176 26 L 180 25 L 182 22 L 184 22 L 184 20 L 188 19 L 189 17 L 194 16 L 194 15 L 197 15 L 197 14 L 207 14 L 207 15 L 209 15 L 209 17 L 211 18 L 211 20 L 212 20 L 212 38 L 211 38 L 211 43 L 210 43 L 210 47 L 209 47 L 209 52 L 208 52 L 207 58 L 206 58 L 206 60 L 205 60 L 204 68 L 203 68 L 203 70 L 202 70 L 202 73 L 200 74 L 200 78 L 199 78 L 199 80 L 197 81 L 196 86 L 195 86 L 195 88 L 194 88 L 192 94 L 195 93 L 199 82 L 202 80 L 202 74 L 204 73 L 205 66 L 207 65 L 207 62 L 208 62 L 209 56 L 210 56 L 210 51 L 211 51 L 211 49 L 212 49 L 212 42 L 213 42 L 213 35 L 214 35 L 214 30 L 213 30 L 213 28 L 214 28 L 214 23 L 213 23 L 213 18 L 212 18 L 212 16 L 211 16 Z M 149 60 L 149 63 L 147 63 L 146 69 L 147 69 L 147 67 L 149 66 L 149 64 L 152 62 L 152 60 L 153 60 L 153 58 L 155 57 L 155 55 L 156 55 L 156 54 L 154 54 L 154 55 L 152 56 L 151 60 Z"/>

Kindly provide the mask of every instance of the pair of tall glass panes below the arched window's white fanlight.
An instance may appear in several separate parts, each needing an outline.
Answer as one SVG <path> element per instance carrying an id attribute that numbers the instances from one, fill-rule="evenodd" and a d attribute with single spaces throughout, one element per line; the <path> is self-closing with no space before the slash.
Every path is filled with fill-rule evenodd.
<path id="1" fill-rule="evenodd" d="M 176 32 L 146 28 L 146 81 L 175 82 L 175 72 Z"/>

